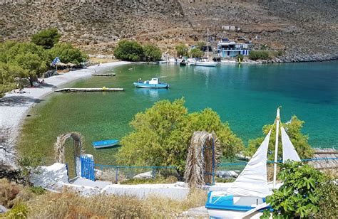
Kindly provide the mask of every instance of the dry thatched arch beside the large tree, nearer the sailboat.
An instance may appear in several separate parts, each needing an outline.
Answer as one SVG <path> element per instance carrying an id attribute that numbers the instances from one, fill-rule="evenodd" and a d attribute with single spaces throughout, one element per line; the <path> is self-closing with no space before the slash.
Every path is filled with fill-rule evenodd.
<path id="1" fill-rule="evenodd" d="M 212 173 L 222 151 L 215 132 L 194 132 L 188 149 L 184 178 L 189 187 L 212 184 Z"/>

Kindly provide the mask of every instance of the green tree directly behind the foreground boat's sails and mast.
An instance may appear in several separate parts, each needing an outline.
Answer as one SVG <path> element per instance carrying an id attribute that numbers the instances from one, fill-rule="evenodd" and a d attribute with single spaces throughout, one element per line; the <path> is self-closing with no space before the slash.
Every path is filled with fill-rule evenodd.
<path id="1" fill-rule="evenodd" d="M 314 151 L 312 147 L 309 145 L 308 139 L 309 137 L 307 135 L 302 134 L 302 127 L 303 127 L 304 121 L 299 120 L 295 115 L 292 116 L 290 123 L 282 124 L 285 128 L 285 131 L 287 132 L 287 135 L 290 137 L 290 140 L 295 146 L 295 149 L 300 157 L 300 159 L 309 159 L 312 158 Z M 263 134 L 267 135 L 267 133 L 272 128 L 272 133 L 270 136 L 269 141 L 269 155 L 268 159 L 273 160 L 275 157 L 275 139 L 276 139 L 276 126 L 272 127 L 271 124 L 267 124 L 263 127 L 262 132 Z M 279 134 L 279 137 L 281 137 L 281 134 Z M 262 143 L 265 137 L 259 137 L 257 139 L 251 139 L 249 140 L 249 145 L 247 146 L 247 149 L 245 150 L 244 154 L 246 156 L 252 156 L 255 154 L 255 151 L 257 151 L 258 147 Z M 278 159 L 282 159 L 282 143 L 281 140 L 278 144 Z"/>

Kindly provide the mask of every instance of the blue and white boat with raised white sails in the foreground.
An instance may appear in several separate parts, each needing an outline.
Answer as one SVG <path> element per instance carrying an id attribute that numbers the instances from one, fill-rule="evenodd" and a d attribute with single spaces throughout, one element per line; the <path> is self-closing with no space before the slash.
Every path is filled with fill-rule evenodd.
<path id="1" fill-rule="evenodd" d="M 276 129 L 279 130 L 280 110 L 277 109 L 275 120 Z M 273 127 L 273 125 L 272 125 Z M 282 133 L 283 162 L 287 160 L 300 161 L 295 147 L 287 136 L 285 129 L 280 128 Z M 265 137 L 262 144 L 245 166 L 245 169 L 225 191 L 210 191 L 205 208 L 208 209 L 210 218 L 260 218 L 264 209 L 270 209 L 265 198 L 272 194 L 272 188 L 276 185 L 278 141 L 275 142 L 274 181 L 272 188 L 267 183 L 267 149 L 270 134 Z M 276 132 L 278 139 L 279 132 Z"/>

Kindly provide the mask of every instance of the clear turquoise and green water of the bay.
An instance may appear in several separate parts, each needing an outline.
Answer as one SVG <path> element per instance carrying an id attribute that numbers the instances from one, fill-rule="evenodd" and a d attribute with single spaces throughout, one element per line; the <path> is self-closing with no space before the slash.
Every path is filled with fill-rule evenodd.
<path id="1" fill-rule="evenodd" d="M 86 151 L 96 161 L 113 164 L 117 149 L 95 150 L 91 141 L 121 139 L 130 132 L 128 122 L 158 100 L 185 97 L 190 112 L 211 107 L 247 144 L 272 124 L 278 106 L 281 119 L 292 114 L 304 120 L 304 133 L 313 147 L 338 148 L 338 61 L 267 65 L 198 66 L 121 65 L 109 72 L 116 77 L 91 77 L 64 87 L 123 87 L 125 92 L 58 93 L 49 95 L 31 111 L 21 138 L 26 145 L 52 156 L 58 134 L 81 132 Z M 169 90 L 133 87 L 143 80 L 164 76 Z M 25 146 L 24 146 L 25 145 Z"/>

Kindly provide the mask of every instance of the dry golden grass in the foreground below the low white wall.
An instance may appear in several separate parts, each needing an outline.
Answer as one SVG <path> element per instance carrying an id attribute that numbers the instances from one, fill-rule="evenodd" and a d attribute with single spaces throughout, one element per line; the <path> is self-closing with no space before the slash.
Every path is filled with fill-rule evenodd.
<path id="1" fill-rule="evenodd" d="M 193 190 L 183 201 L 149 197 L 92 196 L 48 193 L 29 201 L 28 218 L 172 218 L 184 210 L 204 205 L 206 191 Z"/>

